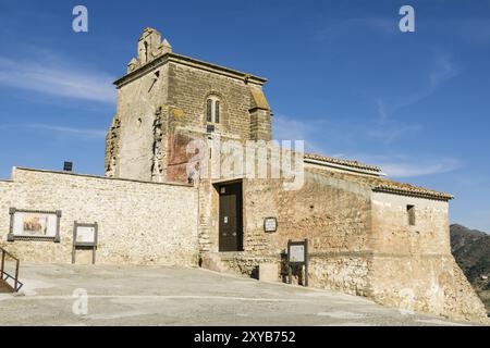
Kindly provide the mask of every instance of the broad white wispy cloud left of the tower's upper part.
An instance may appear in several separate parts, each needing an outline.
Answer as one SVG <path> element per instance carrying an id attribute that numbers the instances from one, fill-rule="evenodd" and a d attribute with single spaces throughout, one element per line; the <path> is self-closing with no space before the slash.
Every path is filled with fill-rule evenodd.
<path id="1" fill-rule="evenodd" d="M 53 53 L 48 58 L 20 61 L 0 57 L 0 85 L 59 98 L 115 102 L 111 76 L 82 70 Z"/>

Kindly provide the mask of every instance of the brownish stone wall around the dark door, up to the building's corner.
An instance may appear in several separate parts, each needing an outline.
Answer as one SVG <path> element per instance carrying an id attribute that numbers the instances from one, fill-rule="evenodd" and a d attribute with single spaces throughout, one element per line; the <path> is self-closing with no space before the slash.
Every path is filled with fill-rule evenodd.
<path id="1" fill-rule="evenodd" d="M 205 266 L 256 276 L 261 262 L 281 269 L 289 239 L 308 238 L 311 286 L 368 295 L 370 190 L 328 173 L 305 175 L 299 190 L 284 190 L 278 179 L 244 181 L 244 251 L 218 253 L 218 224 L 211 222 Z M 217 216 L 216 190 L 211 195 L 215 208 L 209 215 Z M 264 232 L 264 219 L 269 216 L 278 219 L 278 232 L 272 234 Z"/>

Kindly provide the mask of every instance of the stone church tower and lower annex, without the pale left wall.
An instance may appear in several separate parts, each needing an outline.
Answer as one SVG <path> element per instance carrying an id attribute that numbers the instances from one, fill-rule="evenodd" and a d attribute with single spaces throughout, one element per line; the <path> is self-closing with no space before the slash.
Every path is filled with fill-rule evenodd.
<path id="1" fill-rule="evenodd" d="M 142 38 L 148 33 L 157 32 L 147 29 Z M 148 42 L 158 47 L 159 34 Z M 295 190 L 284 189 L 282 179 L 249 178 L 246 170 L 232 176 L 204 176 L 217 157 L 222 165 L 231 157 L 217 153 L 208 140 L 271 139 L 271 111 L 261 89 L 266 79 L 170 49 L 154 54 L 147 64 L 138 58 L 130 71 L 115 83 L 118 112 L 108 137 L 107 158 L 112 161 L 108 160 L 107 174 L 194 182 L 203 266 L 257 277 L 261 263 L 275 263 L 281 279 L 287 240 L 308 238 L 313 286 L 368 296 L 406 310 L 473 320 L 485 316 L 450 252 L 452 196 L 383 179 L 376 166 L 315 154 L 305 154 L 305 183 Z M 221 120 L 211 122 L 211 133 L 206 104 L 210 96 L 222 105 Z M 111 134 L 119 127 L 114 145 Z M 189 149 L 195 139 L 204 148 Z M 200 177 L 189 177 L 189 167 L 200 167 Z M 220 252 L 219 187 L 226 182 L 242 185 L 243 250 Z M 278 219 L 275 233 L 264 231 L 268 216 Z M 301 282 L 302 275 L 296 275 Z"/>

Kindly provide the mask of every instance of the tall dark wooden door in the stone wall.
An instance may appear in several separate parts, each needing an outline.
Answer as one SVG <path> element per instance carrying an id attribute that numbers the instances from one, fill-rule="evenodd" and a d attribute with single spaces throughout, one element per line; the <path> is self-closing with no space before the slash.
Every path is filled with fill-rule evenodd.
<path id="1" fill-rule="evenodd" d="M 222 185 L 218 189 L 220 192 L 220 251 L 242 251 L 242 183 Z"/>

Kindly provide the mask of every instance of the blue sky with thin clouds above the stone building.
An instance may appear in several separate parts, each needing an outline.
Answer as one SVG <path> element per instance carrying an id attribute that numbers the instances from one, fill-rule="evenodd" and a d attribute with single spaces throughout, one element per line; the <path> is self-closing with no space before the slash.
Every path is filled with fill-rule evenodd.
<path id="1" fill-rule="evenodd" d="M 88 9 L 89 32 L 72 30 Z M 415 33 L 399 9 L 415 8 Z M 103 173 L 112 82 L 143 28 L 177 53 L 266 76 L 277 138 L 379 164 L 456 196 L 490 231 L 490 1 L 0 0 L 0 177 L 14 165 Z"/>

